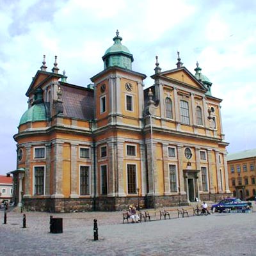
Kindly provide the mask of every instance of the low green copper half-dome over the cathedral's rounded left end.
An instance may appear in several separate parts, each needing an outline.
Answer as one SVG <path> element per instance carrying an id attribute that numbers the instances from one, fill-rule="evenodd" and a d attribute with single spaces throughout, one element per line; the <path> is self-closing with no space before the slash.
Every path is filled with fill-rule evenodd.
<path id="1" fill-rule="evenodd" d="M 20 124 L 47 120 L 47 113 L 44 103 L 35 104 L 29 108 L 20 118 Z"/>

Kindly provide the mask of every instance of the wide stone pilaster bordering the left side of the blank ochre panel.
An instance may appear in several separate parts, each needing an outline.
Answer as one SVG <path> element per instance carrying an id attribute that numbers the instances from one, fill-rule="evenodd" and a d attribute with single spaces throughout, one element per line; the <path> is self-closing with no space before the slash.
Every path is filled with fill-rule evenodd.
<path id="1" fill-rule="evenodd" d="M 63 198 L 63 143 L 54 143 L 54 172 L 52 198 Z"/>

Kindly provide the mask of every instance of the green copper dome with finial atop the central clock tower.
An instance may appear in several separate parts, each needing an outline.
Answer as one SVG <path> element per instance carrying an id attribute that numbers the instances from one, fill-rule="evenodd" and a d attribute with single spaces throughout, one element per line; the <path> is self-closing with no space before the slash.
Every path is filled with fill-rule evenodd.
<path id="1" fill-rule="evenodd" d="M 121 67 L 132 69 L 133 56 L 129 49 L 122 45 L 122 37 L 119 36 L 118 30 L 113 38 L 114 44 L 105 52 L 102 60 L 104 61 L 104 69 L 108 67 Z"/>

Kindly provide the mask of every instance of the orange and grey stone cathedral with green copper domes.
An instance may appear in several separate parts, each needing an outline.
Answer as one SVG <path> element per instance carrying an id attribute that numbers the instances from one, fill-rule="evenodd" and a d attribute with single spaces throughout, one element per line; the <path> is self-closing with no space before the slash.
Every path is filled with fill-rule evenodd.
<path id="1" fill-rule="evenodd" d="M 87 88 L 42 67 L 20 118 L 13 200 L 35 211 L 115 211 L 186 205 L 230 195 L 221 99 L 196 64 L 132 70 L 116 31 Z"/>

